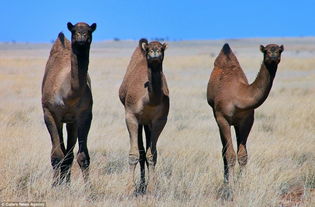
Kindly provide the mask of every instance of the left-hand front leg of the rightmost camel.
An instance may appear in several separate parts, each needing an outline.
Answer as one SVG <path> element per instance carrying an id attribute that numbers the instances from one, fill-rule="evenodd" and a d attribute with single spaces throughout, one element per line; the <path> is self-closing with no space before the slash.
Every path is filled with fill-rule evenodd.
<path id="1" fill-rule="evenodd" d="M 236 161 L 235 151 L 233 149 L 231 126 L 221 114 L 215 116 L 220 130 L 220 137 L 222 142 L 222 157 L 224 162 L 224 182 L 229 183 L 234 177 L 234 166 Z"/>

